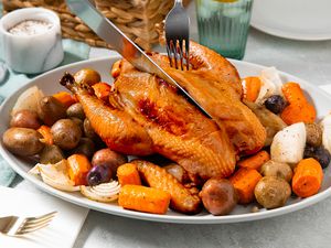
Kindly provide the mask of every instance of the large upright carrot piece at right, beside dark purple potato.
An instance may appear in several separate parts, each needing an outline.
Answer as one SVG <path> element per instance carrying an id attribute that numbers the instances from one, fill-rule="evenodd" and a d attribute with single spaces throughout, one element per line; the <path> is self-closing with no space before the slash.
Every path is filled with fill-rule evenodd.
<path id="1" fill-rule="evenodd" d="M 289 82 L 282 85 L 281 90 L 289 105 L 282 110 L 280 117 L 287 125 L 303 121 L 312 123 L 317 112 L 314 107 L 307 100 L 299 84 Z"/>

